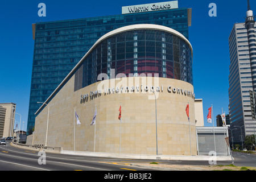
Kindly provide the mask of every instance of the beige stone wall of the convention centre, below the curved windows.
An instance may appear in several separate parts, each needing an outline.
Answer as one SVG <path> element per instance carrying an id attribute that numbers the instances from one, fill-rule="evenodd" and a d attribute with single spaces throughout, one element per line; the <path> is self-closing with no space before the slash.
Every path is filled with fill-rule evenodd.
<path id="1" fill-rule="evenodd" d="M 94 151 L 94 129 L 96 129 L 96 152 L 119 153 L 120 122 L 118 119 L 120 102 L 122 105 L 121 153 L 156 154 L 155 96 L 144 86 L 159 86 L 156 92 L 158 154 L 191 155 L 189 122 L 185 107 L 189 102 L 192 155 L 196 151 L 195 105 L 192 97 L 193 86 L 187 82 L 169 78 L 130 77 L 96 82 L 74 92 L 75 76 L 48 103 L 49 123 L 47 146 L 63 147 L 63 150 Z M 135 87 L 135 92 L 127 93 L 125 86 Z M 136 86 L 139 85 L 139 91 Z M 141 90 L 141 85 L 143 90 Z M 120 88 L 122 92 L 104 93 L 104 88 Z M 163 90 L 162 90 L 163 86 Z M 191 92 L 168 92 L 168 86 L 176 90 Z M 102 88 L 102 93 L 90 97 L 91 91 Z M 183 90 L 183 91 L 184 91 Z M 81 95 L 89 94 L 85 99 Z M 90 126 L 97 106 L 96 125 Z M 81 126 L 75 125 L 75 109 Z M 34 144 L 45 144 L 47 126 L 47 106 L 35 120 Z M 74 128 L 76 126 L 76 128 Z M 76 133 L 75 133 L 76 131 Z M 75 133 L 75 136 L 74 136 Z M 74 141 L 75 145 L 74 145 Z"/>

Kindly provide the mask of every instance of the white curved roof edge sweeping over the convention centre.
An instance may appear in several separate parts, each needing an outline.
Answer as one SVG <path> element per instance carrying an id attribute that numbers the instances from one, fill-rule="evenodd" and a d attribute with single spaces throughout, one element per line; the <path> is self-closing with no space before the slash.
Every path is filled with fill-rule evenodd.
<path id="1" fill-rule="evenodd" d="M 80 64 L 84 61 L 85 57 L 88 56 L 89 53 L 100 42 L 102 42 L 102 40 L 105 40 L 105 39 L 109 38 L 110 36 L 113 36 L 113 35 L 116 35 L 116 34 L 120 34 L 122 32 L 132 31 L 132 30 L 145 30 L 145 29 L 166 31 L 166 32 L 170 32 L 171 34 L 175 34 L 176 36 L 179 36 L 181 39 L 185 40 L 185 42 L 188 43 L 189 47 L 192 50 L 192 56 L 193 56 L 193 48 L 191 46 L 191 43 L 188 41 L 187 38 L 185 38 L 184 35 L 180 34 L 180 32 L 178 32 L 178 31 L 176 31 L 176 30 L 174 30 L 172 28 L 169 28 L 169 27 L 166 27 L 166 26 L 157 25 L 157 24 L 133 24 L 133 25 L 117 28 L 117 29 L 115 29 L 113 31 L 110 31 L 107 34 L 103 35 L 100 39 L 98 39 L 96 41 L 96 43 L 93 44 L 93 46 L 89 49 L 89 51 L 85 53 L 85 55 L 82 57 L 82 59 L 79 61 L 79 63 L 77 63 L 76 66 L 72 69 L 72 71 L 68 73 L 68 75 L 64 78 L 64 80 L 60 83 L 59 86 L 57 86 L 57 88 L 52 92 L 51 96 L 49 96 L 44 103 L 48 103 L 51 100 L 51 98 L 58 92 L 58 90 L 65 84 L 65 82 L 67 82 L 68 79 L 73 75 L 73 73 L 75 73 L 76 69 L 79 68 Z M 35 114 L 38 114 L 39 111 L 43 109 L 44 105 L 45 104 L 40 106 Z"/>

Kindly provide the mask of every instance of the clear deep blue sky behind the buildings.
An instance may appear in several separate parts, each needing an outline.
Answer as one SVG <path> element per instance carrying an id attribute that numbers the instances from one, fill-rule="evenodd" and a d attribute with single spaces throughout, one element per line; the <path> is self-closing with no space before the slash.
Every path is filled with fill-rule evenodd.
<path id="1" fill-rule="evenodd" d="M 168 0 L 166 0 L 168 1 Z M 122 14 L 122 6 L 165 2 L 165 0 L 9 0 L 0 3 L 0 103 L 13 102 L 27 127 L 34 40 L 32 23 Z M 193 47 L 193 81 L 196 98 L 203 99 L 205 126 L 208 108 L 213 115 L 228 114 L 229 44 L 234 23 L 245 22 L 246 0 L 179 0 L 179 7 L 192 8 L 189 42 Z M 46 17 L 38 16 L 38 4 L 46 4 Z M 210 17 L 210 3 L 217 16 Z M 256 2 L 251 0 L 256 14 Z M 185 112 L 185 107 L 184 107 Z M 15 120 L 19 121 L 16 114 Z M 214 119 L 215 121 L 216 119 Z M 214 122 L 216 126 L 216 121 Z M 21 126 L 22 127 L 22 126 Z"/>

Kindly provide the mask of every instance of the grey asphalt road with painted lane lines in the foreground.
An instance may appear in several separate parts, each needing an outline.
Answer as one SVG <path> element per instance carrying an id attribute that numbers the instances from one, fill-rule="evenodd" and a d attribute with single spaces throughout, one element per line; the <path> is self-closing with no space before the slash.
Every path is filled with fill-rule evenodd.
<path id="1" fill-rule="evenodd" d="M 43 153 L 38 151 L 25 150 L 11 146 L 0 146 L 0 171 L 151 171 L 155 169 L 130 166 L 130 163 L 150 163 L 179 165 L 205 165 L 208 161 L 180 161 L 180 160 L 139 160 L 139 159 L 118 159 L 99 158 L 93 156 L 64 155 Z M 235 166 L 256 167 L 256 155 L 233 152 Z M 217 165 L 228 165 L 232 162 L 217 161 Z"/>

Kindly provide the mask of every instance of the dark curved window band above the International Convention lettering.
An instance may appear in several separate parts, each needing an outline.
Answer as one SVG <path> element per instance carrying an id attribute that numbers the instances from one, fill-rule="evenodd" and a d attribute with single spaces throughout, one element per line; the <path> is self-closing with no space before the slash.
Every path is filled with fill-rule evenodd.
<path id="1" fill-rule="evenodd" d="M 192 49 L 185 40 L 160 30 L 133 30 L 110 36 L 97 44 L 75 73 L 75 91 L 94 82 L 101 73 L 110 78 L 123 73 L 174 78 L 193 84 Z M 81 79 L 82 77 L 82 79 Z"/>

